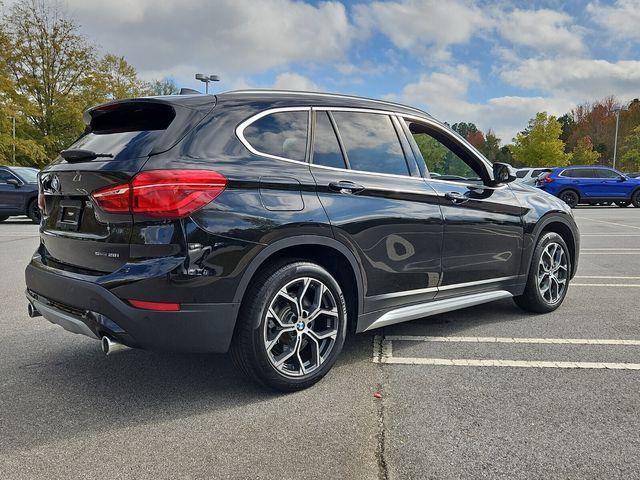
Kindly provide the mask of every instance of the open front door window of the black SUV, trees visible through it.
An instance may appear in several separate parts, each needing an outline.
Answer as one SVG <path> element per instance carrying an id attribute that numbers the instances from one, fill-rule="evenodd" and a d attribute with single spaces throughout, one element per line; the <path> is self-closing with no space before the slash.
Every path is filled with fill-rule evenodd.
<path id="1" fill-rule="evenodd" d="M 409 131 L 429 173 L 439 180 L 482 183 L 484 167 L 466 154 L 464 147 L 434 127 L 407 121 Z M 526 175 L 526 170 L 524 175 Z M 523 175 L 523 176 L 524 176 Z M 522 178 L 522 177 L 520 177 Z"/>

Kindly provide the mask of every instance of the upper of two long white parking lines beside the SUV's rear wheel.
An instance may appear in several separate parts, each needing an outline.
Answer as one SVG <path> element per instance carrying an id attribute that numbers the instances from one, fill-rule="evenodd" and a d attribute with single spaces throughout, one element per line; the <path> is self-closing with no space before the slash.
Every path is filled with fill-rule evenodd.
<path id="1" fill-rule="evenodd" d="M 528 343 L 568 345 L 634 345 L 640 340 L 611 338 L 525 338 L 525 337 L 436 337 L 429 335 L 385 335 L 384 341 L 453 343 Z"/>

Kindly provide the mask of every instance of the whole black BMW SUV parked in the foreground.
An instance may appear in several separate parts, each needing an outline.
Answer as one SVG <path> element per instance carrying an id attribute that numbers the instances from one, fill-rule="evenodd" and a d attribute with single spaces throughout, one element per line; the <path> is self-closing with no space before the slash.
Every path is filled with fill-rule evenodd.
<path id="1" fill-rule="evenodd" d="M 295 390 L 347 331 L 508 297 L 549 312 L 576 271 L 567 205 L 415 108 L 238 91 L 84 120 L 40 176 L 27 297 L 107 353 L 230 349 Z"/>

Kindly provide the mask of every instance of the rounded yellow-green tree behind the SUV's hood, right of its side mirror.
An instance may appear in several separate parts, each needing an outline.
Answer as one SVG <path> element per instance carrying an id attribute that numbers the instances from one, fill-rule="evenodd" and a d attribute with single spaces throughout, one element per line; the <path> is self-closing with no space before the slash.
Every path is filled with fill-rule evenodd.
<path id="1" fill-rule="evenodd" d="M 564 151 L 560 140 L 562 126 L 547 112 L 537 113 L 529 120 L 527 130 L 520 132 L 511 145 L 513 158 L 529 167 L 551 167 L 567 165 L 571 154 Z"/>

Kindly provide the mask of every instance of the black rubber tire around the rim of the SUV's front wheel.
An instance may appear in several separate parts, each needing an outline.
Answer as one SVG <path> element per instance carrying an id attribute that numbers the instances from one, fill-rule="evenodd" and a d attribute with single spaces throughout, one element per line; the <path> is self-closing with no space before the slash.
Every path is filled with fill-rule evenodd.
<path id="1" fill-rule="evenodd" d="M 545 294 L 542 293 L 541 281 L 539 278 L 539 268 L 541 264 L 541 258 L 543 253 L 545 253 L 548 246 L 552 244 L 558 245 L 562 248 L 562 254 L 564 255 L 564 259 L 566 260 L 564 273 L 558 271 L 558 277 L 560 275 L 564 275 L 564 287 L 562 291 L 559 291 L 559 283 L 556 281 L 555 284 L 558 286 L 558 290 L 556 293 L 558 294 L 558 298 L 551 300 L 547 299 Z M 531 258 L 531 265 L 529 267 L 529 275 L 527 276 L 527 285 L 524 289 L 524 293 L 518 297 L 514 297 L 513 300 L 515 303 L 522 308 L 523 310 L 535 313 L 548 313 L 554 311 L 558 308 L 562 302 L 564 301 L 565 296 L 567 295 L 567 290 L 569 287 L 569 277 L 571 272 L 571 256 L 569 255 L 569 249 L 567 248 L 567 244 L 563 240 L 563 238 L 554 232 L 549 232 L 543 234 L 536 248 L 533 252 L 533 256 Z M 551 280 L 549 280 L 549 290 L 551 290 Z"/>

